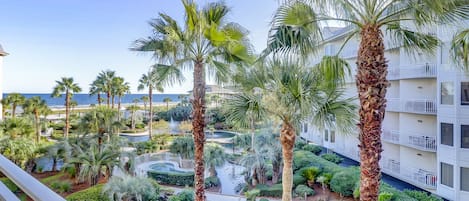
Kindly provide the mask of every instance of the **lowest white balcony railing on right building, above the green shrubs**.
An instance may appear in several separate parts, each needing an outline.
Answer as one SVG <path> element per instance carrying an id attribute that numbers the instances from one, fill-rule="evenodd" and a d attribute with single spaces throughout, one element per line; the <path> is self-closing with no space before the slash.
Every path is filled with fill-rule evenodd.
<path id="1" fill-rule="evenodd" d="M 401 173 L 410 183 L 419 187 L 436 189 L 437 176 L 434 172 L 414 167 L 401 167 Z"/>

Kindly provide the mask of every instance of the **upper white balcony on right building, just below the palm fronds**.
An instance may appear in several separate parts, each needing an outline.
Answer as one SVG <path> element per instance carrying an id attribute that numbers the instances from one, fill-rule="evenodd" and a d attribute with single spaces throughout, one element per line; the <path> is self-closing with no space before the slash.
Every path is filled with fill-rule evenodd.
<path id="1" fill-rule="evenodd" d="M 388 80 L 411 78 L 435 78 L 437 74 L 436 64 L 420 64 L 415 66 L 401 66 L 388 69 Z"/>

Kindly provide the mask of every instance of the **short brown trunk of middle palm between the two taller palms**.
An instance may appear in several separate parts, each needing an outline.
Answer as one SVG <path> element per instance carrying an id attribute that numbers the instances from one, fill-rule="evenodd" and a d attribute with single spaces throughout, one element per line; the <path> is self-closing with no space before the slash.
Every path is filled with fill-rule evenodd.
<path id="1" fill-rule="evenodd" d="M 282 124 L 282 130 L 280 131 L 280 143 L 282 144 L 283 154 L 283 173 L 282 173 L 282 201 L 292 200 L 292 188 L 293 188 L 293 147 L 295 146 L 295 129 L 293 125 L 288 121 L 284 121 Z"/>

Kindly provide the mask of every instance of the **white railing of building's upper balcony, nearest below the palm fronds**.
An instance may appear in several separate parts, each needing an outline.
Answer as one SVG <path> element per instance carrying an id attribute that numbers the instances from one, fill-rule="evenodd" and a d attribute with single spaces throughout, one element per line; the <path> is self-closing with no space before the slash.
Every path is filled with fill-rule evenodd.
<path id="1" fill-rule="evenodd" d="M 436 77 L 437 68 L 435 64 L 420 64 L 410 67 L 399 68 L 400 79 L 408 78 L 432 78 Z"/>

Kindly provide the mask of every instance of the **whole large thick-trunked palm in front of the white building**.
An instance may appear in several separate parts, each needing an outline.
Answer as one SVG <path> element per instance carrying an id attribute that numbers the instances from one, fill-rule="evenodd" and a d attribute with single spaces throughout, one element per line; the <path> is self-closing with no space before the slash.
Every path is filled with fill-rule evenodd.
<path id="1" fill-rule="evenodd" d="M 380 135 L 389 86 L 383 30 L 407 52 L 434 53 L 439 40 L 426 32 L 428 26 L 469 18 L 468 4 L 467 0 L 298 0 L 277 10 L 266 53 L 293 53 L 306 58 L 321 45 L 321 24 L 331 21 L 349 27 L 339 52 L 350 39 L 359 38 L 355 78 L 360 100 L 360 200 L 377 200 L 381 177 Z M 414 23 L 417 28 L 401 22 Z"/>

